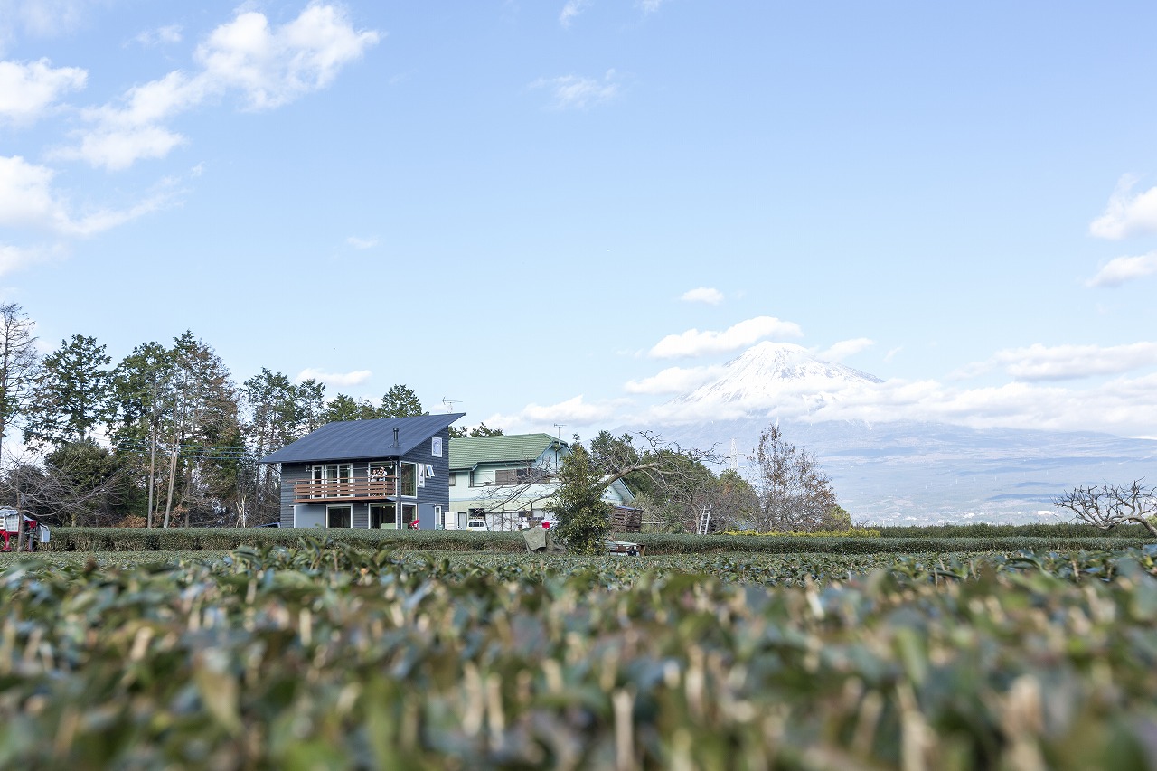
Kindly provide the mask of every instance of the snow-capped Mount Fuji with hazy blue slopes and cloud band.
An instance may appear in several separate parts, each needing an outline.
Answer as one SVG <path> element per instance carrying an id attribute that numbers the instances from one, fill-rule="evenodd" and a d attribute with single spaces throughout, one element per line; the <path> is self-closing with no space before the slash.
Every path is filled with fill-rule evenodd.
<path id="1" fill-rule="evenodd" d="M 1053 521 L 1053 498 L 1076 485 L 1157 476 L 1157 441 L 904 419 L 902 406 L 879 409 L 883 384 L 798 345 L 761 343 L 658 407 L 658 431 L 715 447 L 743 473 L 760 432 L 779 423 L 817 456 L 853 520 L 876 523 Z"/>

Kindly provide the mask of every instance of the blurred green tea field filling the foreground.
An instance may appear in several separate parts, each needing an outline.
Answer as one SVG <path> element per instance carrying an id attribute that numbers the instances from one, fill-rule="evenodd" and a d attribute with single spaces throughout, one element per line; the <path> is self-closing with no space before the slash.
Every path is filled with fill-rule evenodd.
<path id="1" fill-rule="evenodd" d="M 1154 769 L 1157 549 L 0 561 L 0 766 Z"/>

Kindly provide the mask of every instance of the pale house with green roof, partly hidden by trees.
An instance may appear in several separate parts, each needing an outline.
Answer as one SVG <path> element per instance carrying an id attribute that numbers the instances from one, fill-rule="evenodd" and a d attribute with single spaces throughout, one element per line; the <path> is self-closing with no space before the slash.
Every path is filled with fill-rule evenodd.
<path id="1" fill-rule="evenodd" d="M 555 472 L 570 446 L 550 434 L 450 440 L 448 529 L 519 530 L 550 519 Z M 628 507 L 634 495 L 621 479 L 603 498 Z"/>

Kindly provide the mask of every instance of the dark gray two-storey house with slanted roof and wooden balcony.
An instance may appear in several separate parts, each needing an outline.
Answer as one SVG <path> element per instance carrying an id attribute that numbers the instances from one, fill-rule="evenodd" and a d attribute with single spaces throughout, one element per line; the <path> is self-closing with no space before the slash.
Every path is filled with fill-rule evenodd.
<path id="1" fill-rule="evenodd" d="M 463 414 L 330 423 L 266 455 L 281 464 L 281 527 L 443 527 Z"/>

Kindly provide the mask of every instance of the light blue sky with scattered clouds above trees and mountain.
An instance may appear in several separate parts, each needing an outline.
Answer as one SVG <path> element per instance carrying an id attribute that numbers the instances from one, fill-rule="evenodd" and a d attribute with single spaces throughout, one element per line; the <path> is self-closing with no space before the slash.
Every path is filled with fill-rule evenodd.
<path id="1" fill-rule="evenodd" d="M 646 421 L 771 339 L 883 379 L 875 419 L 1157 436 L 1155 23 L 0 0 L 0 299 L 46 348 L 189 329 L 238 383 L 507 431 Z"/>

